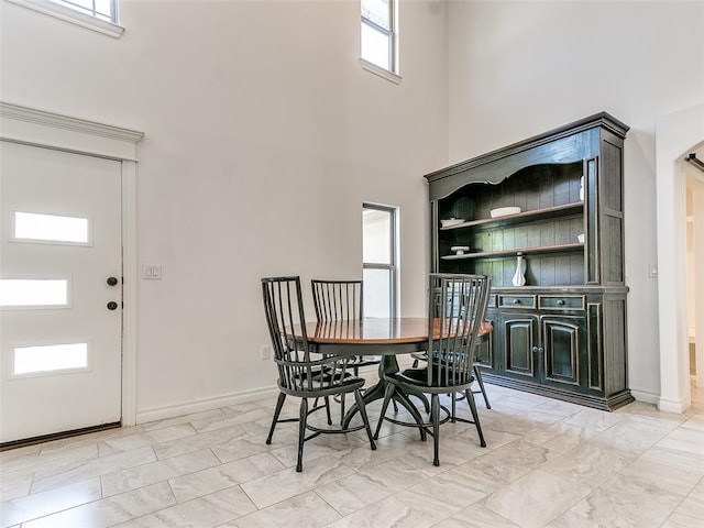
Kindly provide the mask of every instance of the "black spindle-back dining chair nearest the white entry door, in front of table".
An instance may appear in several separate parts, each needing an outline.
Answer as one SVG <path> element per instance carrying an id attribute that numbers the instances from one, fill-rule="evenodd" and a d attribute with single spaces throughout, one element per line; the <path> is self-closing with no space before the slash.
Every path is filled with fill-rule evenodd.
<path id="1" fill-rule="evenodd" d="M 370 446 L 376 444 L 372 438 L 366 408 L 360 389 L 364 378 L 348 372 L 348 359 L 339 355 L 317 356 L 310 352 L 305 326 L 305 314 L 300 279 L 294 277 L 262 278 L 264 312 L 274 349 L 274 362 L 278 369 L 278 399 L 272 419 L 266 443 L 272 443 L 276 424 L 298 421 L 298 461 L 296 471 L 302 471 L 304 443 L 323 433 L 346 433 L 366 430 Z M 308 398 L 354 393 L 354 398 L 363 425 L 348 428 L 319 428 L 308 422 L 308 416 L 323 407 L 308 408 Z M 298 418 L 279 419 L 287 396 L 300 398 Z M 310 435 L 307 432 L 310 431 Z"/>

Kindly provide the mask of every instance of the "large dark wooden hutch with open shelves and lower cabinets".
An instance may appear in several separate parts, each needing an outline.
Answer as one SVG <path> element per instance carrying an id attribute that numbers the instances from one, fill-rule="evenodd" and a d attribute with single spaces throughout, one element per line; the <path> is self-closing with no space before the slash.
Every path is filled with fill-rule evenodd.
<path id="1" fill-rule="evenodd" d="M 494 332 L 480 351 L 485 381 L 605 410 L 632 402 L 623 230 L 627 131 L 602 112 L 425 176 L 431 270 L 492 278 Z M 520 212 L 492 217 L 505 207 Z M 449 219 L 452 226 L 442 227 Z M 518 255 L 526 285 L 516 287 Z"/>

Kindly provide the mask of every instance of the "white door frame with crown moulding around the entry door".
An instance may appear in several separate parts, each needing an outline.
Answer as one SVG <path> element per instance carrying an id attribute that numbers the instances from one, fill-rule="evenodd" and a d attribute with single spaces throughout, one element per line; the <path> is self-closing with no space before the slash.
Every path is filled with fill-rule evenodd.
<path id="1" fill-rule="evenodd" d="M 136 143 L 143 132 L 0 101 L 0 141 L 121 163 L 122 425 L 136 424 Z"/>

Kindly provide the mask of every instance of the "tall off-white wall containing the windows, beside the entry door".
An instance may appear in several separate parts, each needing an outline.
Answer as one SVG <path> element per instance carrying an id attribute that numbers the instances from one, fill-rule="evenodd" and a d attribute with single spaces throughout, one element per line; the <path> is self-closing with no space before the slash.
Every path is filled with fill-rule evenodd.
<path id="1" fill-rule="evenodd" d="M 258 279 L 361 277 L 363 201 L 400 208 L 402 311 L 422 314 L 444 6 L 403 4 L 396 86 L 360 67 L 358 0 L 120 3 L 113 40 L 2 2 L 0 96 L 145 132 L 139 261 L 163 279 L 139 284 L 138 417 L 274 386 Z"/>

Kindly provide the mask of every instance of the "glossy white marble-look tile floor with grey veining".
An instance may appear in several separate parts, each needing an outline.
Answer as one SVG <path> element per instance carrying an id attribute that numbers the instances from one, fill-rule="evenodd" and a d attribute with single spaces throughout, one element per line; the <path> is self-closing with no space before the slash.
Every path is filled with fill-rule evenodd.
<path id="1" fill-rule="evenodd" d="M 1 526 L 704 526 L 704 389 L 682 415 L 487 389 L 487 447 L 447 424 L 439 468 L 431 441 L 386 422 L 376 451 L 363 431 L 307 442 L 296 473 L 295 424 L 264 442 L 275 398 L 6 451 Z"/>

